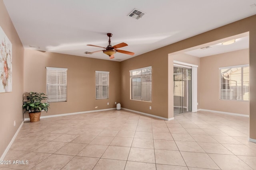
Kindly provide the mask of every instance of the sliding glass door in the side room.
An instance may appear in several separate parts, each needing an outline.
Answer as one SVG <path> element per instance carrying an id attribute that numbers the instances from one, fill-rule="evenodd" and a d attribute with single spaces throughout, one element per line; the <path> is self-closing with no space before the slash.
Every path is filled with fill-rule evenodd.
<path id="1" fill-rule="evenodd" d="M 174 115 L 191 111 L 191 69 L 174 67 Z"/>

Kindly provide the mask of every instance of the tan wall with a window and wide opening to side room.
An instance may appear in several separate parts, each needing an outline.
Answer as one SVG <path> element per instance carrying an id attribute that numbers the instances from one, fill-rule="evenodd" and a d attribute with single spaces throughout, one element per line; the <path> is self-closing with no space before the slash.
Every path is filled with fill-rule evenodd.
<path id="1" fill-rule="evenodd" d="M 173 63 L 168 54 L 250 32 L 250 137 L 256 139 L 256 15 L 150 51 L 121 63 L 122 106 L 162 117 L 173 116 Z M 152 65 L 152 103 L 130 100 L 129 70 Z M 168 69 L 169 68 L 169 69 Z M 157 80 L 157 81 L 156 81 Z M 152 105 L 152 110 L 148 106 Z"/>

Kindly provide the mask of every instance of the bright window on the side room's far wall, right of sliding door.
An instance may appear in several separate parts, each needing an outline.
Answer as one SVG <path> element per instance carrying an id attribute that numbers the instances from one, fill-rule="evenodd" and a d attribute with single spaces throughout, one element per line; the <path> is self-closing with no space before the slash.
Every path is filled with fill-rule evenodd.
<path id="1" fill-rule="evenodd" d="M 222 67 L 220 100 L 249 101 L 249 65 Z"/>

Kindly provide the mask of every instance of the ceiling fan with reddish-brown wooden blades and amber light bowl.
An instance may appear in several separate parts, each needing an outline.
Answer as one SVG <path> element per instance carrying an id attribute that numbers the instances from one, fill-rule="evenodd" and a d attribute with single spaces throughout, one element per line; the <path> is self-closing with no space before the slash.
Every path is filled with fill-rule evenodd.
<path id="1" fill-rule="evenodd" d="M 120 50 L 118 48 L 121 48 L 121 47 L 125 47 L 127 46 L 128 44 L 126 43 L 120 43 L 120 44 L 117 44 L 117 45 L 114 45 L 112 46 L 111 45 L 111 41 L 110 41 L 110 37 L 112 37 L 112 33 L 107 33 L 109 39 L 108 39 L 108 46 L 107 47 L 100 47 L 98 45 L 90 45 L 89 46 L 92 46 L 92 47 L 100 47 L 100 48 L 104 48 L 105 50 L 99 50 L 99 51 L 93 51 L 93 52 L 84 52 L 85 54 L 93 54 L 93 53 L 97 53 L 97 52 L 100 52 L 100 51 L 103 51 L 104 54 L 108 55 L 110 59 L 114 59 L 114 54 L 116 52 L 118 53 L 124 53 L 124 54 L 128 54 L 128 55 L 134 55 L 134 53 L 130 52 L 130 51 L 124 51 L 124 50 Z"/>

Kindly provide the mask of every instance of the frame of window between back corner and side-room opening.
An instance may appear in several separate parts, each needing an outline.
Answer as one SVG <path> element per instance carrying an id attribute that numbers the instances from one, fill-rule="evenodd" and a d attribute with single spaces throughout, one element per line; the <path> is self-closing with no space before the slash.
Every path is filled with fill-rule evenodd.
<path id="1" fill-rule="evenodd" d="M 146 71 L 143 71 L 146 70 Z M 140 78 L 140 95 L 138 95 L 138 91 L 136 91 L 136 96 L 133 95 L 133 88 L 134 86 L 138 86 L 137 84 L 134 85 L 133 84 L 133 79 L 134 78 Z M 150 78 L 150 83 L 146 83 L 144 84 L 143 80 L 145 80 L 145 78 Z M 136 81 L 138 82 L 138 81 Z M 144 98 L 144 96 L 142 95 L 143 90 L 148 90 L 148 86 L 150 86 L 150 99 L 146 100 L 146 98 Z M 146 89 L 145 89 L 146 88 Z M 138 88 L 136 88 L 138 90 Z M 148 92 L 146 92 L 147 94 Z M 136 97 L 136 99 L 134 98 Z M 140 98 L 140 99 L 138 99 Z M 130 70 L 130 100 L 137 100 L 137 101 L 143 101 L 143 102 L 152 102 L 152 66 L 147 66 L 147 67 L 143 67 L 143 68 L 138 68 L 138 69 L 134 69 L 134 70 Z"/>

